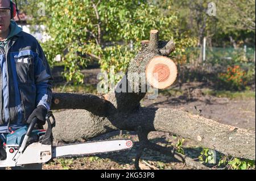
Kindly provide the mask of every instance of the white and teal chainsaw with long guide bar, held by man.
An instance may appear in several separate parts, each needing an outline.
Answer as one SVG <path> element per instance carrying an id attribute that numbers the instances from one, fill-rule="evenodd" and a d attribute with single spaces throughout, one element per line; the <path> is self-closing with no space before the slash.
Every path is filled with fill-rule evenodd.
<path id="1" fill-rule="evenodd" d="M 103 140 L 52 146 L 52 128 L 56 124 L 52 112 L 46 116 L 47 129 L 34 129 L 37 121 L 34 118 L 30 125 L 6 133 L 3 141 L 0 141 L 0 167 L 47 163 L 53 158 L 84 157 L 133 147 L 131 140 Z"/>

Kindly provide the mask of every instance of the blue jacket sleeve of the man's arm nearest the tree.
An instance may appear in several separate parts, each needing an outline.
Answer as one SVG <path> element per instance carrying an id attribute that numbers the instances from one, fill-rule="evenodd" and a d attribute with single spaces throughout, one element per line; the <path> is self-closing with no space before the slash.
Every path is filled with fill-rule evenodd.
<path id="1" fill-rule="evenodd" d="M 52 101 L 52 75 L 42 47 L 37 42 L 35 55 L 36 106 L 43 105 L 49 111 Z"/>

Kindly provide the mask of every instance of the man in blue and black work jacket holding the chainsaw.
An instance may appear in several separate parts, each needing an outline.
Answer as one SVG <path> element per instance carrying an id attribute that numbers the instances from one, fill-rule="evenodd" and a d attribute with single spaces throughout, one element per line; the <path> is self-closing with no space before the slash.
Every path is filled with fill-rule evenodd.
<path id="1" fill-rule="evenodd" d="M 0 0 L 0 128 L 29 124 L 34 117 L 42 128 L 51 106 L 52 77 L 38 41 L 11 20 L 15 9 L 10 0 Z"/>

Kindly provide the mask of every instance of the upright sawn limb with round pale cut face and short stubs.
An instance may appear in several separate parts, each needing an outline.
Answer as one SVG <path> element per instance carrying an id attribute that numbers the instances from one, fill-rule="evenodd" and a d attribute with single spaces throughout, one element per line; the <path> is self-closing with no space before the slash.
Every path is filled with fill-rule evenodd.
<path id="1" fill-rule="evenodd" d="M 175 50 L 175 45 L 172 40 L 158 41 L 158 31 L 152 30 L 150 41 L 142 41 L 142 50 L 130 62 L 126 75 L 117 84 L 115 91 L 104 95 L 119 112 L 133 112 L 137 109 L 150 87 L 158 88 L 157 85 L 160 85 L 166 88 L 174 83 L 177 76 L 176 65 L 170 58 L 163 57 L 160 50 L 164 50 L 164 55 L 167 56 Z M 146 70 L 147 66 L 149 70 Z M 159 69 L 159 66 L 164 66 L 164 69 Z M 150 84 L 153 73 L 164 78 L 164 81 L 153 77 L 154 83 Z"/>

